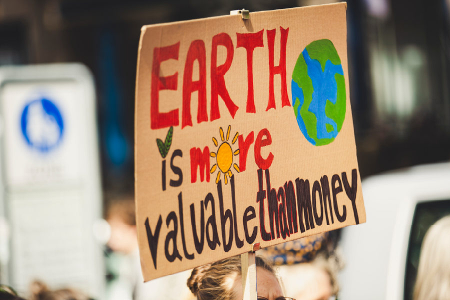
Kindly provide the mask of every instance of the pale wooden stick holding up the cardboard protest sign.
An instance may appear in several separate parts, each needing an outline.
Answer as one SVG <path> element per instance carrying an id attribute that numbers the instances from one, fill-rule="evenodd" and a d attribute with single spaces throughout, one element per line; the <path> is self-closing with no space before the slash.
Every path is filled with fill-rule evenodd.
<path id="1" fill-rule="evenodd" d="M 253 251 L 240 254 L 243 300 L 257 300 L 256 261 Z"/>

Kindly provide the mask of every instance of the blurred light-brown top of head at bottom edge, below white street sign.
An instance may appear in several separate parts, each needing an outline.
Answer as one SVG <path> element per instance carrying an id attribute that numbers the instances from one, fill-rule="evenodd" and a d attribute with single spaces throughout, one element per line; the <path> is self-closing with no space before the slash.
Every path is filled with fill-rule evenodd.
<path id="1" fill-rule="evenodd" d="M 29 300 L 92 300 L 84 293 L 73 288 L 50 290 L 42 281 L 35 280 L 30 284 Z"/>

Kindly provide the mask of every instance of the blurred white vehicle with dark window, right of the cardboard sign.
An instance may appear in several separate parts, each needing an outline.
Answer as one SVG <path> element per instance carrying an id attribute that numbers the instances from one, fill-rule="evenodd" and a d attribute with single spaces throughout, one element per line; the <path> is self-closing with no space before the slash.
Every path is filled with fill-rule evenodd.
<path id="1" fill-rule="evenodd" d="M 371 176 L 362 193 L 367 222 L 342 230 L 339 299 L 410 300 L 424 234 L 450 214 L 450 163 Z"/>

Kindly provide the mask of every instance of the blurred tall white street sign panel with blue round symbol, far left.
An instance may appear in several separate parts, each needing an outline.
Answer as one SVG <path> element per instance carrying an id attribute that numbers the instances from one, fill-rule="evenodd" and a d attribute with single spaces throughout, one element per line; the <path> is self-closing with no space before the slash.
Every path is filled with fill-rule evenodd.
<path id="1" fill-rule="evenodd" d="M 41 279 L 101 298 L 92 76 L 80 64 L 9 66 L 0 68 L 0 83 L 0 234 L 9 236 L 0 244 L 1 280 L 21 292 Z"/>

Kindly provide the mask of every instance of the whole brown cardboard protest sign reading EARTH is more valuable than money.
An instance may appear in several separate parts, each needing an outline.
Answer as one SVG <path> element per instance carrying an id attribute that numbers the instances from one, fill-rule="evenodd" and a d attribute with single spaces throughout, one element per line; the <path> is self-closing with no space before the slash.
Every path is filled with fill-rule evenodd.
<path id="1" fill-rule="evenodd" d="M 337 3 L 142 28 L 145 280 L 365 222 L 345 14 Z"/>

